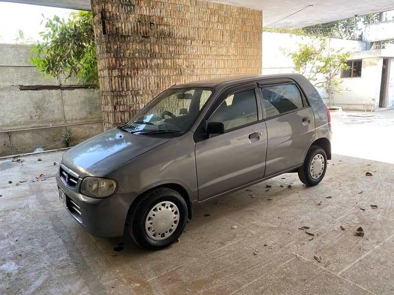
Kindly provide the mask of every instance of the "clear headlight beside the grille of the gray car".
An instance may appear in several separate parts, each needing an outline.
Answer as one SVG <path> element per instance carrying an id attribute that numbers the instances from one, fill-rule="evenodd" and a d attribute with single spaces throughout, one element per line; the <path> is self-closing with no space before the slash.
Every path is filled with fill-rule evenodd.
<path id="1" fill-rule="evenodd" d="M 95 198 L 109 197 L 115 190 L 116 182 L 106 178 L 85 177 L 81 184 L 81 194 Z"/>

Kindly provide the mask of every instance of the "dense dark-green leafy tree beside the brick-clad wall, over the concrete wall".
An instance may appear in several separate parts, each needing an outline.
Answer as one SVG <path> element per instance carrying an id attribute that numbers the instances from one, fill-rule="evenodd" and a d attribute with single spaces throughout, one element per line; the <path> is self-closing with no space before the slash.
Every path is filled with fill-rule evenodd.
<path id="1" fill-rule="evenodd" d="M 77 77 L 78 83 L 98 88 L 92 12 L 72 12 L 67 20 L 56 15 L 44 20 L 43 43 L 32 45 L 29 61 L 44 75 Z"/>

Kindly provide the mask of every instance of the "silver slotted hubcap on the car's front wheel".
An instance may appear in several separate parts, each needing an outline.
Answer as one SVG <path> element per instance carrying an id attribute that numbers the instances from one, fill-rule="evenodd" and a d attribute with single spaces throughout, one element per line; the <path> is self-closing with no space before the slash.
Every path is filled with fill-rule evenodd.
<path id="1" fill-rule="evenodd" d="M 145 231 L 151 239 L 164 240 L 174 233 L 178 222 L 178 207 L 172 202 L 160 202 L 146 216 Z"/>

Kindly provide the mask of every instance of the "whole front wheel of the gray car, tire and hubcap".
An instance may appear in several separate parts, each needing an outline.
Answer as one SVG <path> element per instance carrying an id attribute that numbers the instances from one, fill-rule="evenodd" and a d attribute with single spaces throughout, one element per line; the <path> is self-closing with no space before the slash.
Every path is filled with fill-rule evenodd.
<path id="1" fill-rule="evenodd" d="M 132 210 L 129 234 L 143 248 L 162 249 L 181 236 L 187 216 L 185 199 L 177 191 L 158 188 L 142 196 Z"/>

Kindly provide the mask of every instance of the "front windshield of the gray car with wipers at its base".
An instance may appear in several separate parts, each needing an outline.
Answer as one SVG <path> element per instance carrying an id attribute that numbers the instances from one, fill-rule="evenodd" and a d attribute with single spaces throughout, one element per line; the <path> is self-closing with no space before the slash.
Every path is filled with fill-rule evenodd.
<path id="1" fill-rule="evenodd" d="M 167 89 L 118 128 L 138 134 L 182 134 L 197 118 L 211 94 L 209 89 Z"/>

